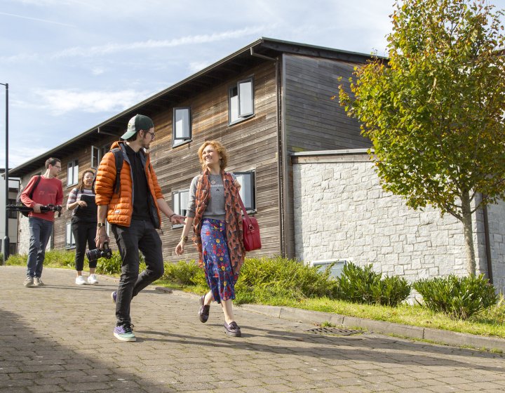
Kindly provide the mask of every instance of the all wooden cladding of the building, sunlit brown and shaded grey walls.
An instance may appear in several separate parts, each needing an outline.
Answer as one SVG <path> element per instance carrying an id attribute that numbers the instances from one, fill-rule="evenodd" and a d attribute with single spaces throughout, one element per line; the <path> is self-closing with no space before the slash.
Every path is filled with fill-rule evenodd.
<path id="1" fill-rule="evenodd" d="M 150 149 L 152 165 L 169 206 L 172 193 L 189 189 L 191 179 L 200 173 L 198 148 L 206 140 L 218 140 L 229 154 L 228 171 L 255 171 L 255 217 L 260 223 L 262 249 L 250 255 L 278 255 L 282 250 L 294 249 L 292 222 L 292 173 L 291 161 L 286 157 L 283 181 L 284 234 L 281 236 L 281 213 L 279 211 L 280 181 L 278 171 L 280 136 L 279 122 L 283 122 L 285 140 L 283 144 L 290 152 L 332 149 L 354 149 L 370 147 L 370 141 L 363 138 L 357 121 L 346 116 L 344 109 L 335 100 L 338 93 L 338 76 L 345 85 L 356 64 L 304 55 L 284 54 L 278 67 L 277 86 L 276 62 L 265 60 L 260 64 L 242 68 L 232 79 L 224 79 L 213 88 L 189 93 L 176 105 L 159 107 L 156 114 L 150 114 L 154 121 L 156 138 Z M 230 64 L 229 67 L 234 67 Z M 238 67 L 237 67 L 238 70 Z M 282 71 L 281 71 L 282 70 Z M 229 125 L 229 88 L 243 79 L 253 79 L 254 115 L 248 119 Z M 166 101 L 168 102 L 168 101 Z M 170 104 L 172 105 L 172 104 Z M 280 107 L 284 105 L 284 107 Z M 173 146 L 173 109 L 191 108 L 191 140 Z M 142 107 L 138 109 L 142 114 Z M 280 118 L 278 118 L 278 116 Z M 126 128 L 126 124 L 124 124 Z M 104 135 L 97 147 L 112 143 L 112 137 Z M 281 137 L 282 138 L 282 137 Z M 64 201 L 74 187 L 67 185 L 67 164 L 79 160 L 79 178 L 90 167 L 91 147 L 82 147 L 72 156 L 62 158 Z M 71 212 L 64 211 L 56 218 L 54 247 L 65 248 L 65 225 L 70 221 Z M 163 258 L 169 262 L 198 258 L 196 249 L 189 242 L 186 253 L 175 255 L 182 227 L 173 228 L 168 218 L 162 217 L 160 232 L 163 244 Z M 191 236 L 191 233 L 190 233 Z M 284 248 L 281 241 L 285 241 Z M 116 249 L 111 234 L 111 246 Z"/>

